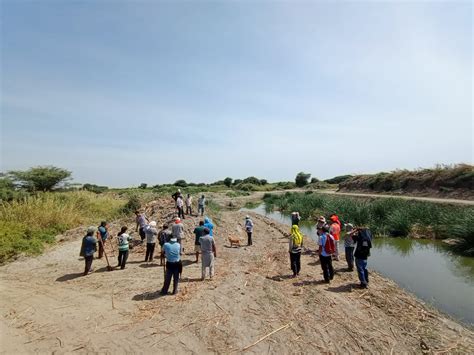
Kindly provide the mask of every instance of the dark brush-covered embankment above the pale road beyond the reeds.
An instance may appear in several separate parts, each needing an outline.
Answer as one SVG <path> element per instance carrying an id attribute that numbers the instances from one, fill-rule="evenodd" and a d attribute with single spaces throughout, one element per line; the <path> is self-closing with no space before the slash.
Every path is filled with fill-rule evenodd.
<path id="1" fill-rule="evenodd" d="M 339 184 L 342 190 L 424 192 L 474 197 L 474 167 L 467 164 L 436 166 L 415 171 L 357 175 Z"/>

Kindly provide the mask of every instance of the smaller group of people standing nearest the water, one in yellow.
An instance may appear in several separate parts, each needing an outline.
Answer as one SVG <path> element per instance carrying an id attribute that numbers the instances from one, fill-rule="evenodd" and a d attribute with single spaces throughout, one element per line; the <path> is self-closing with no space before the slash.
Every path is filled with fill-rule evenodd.
<path id="1" fill-rule="evenodd" d="M 301 217 L 298 212 L 291 214 L 291 233 L 289 241 L 290 265 L 293 277 L 299 275 L 301 270 L 301 251 L 303 247 L 303 235 L 299 230 Z M 339 240 L 341 238 L 342 222 L 336 214 L 332 214 L 328 220 L 320 216 L 316 223 L 316 234 L 318 236 L 318 254 L 323 277 L 326 283 L 334 278 L 333 260 L 339 260 Z M 361 288 L 367 288 L 369 284 L 369 272 L 367 270 L 367 258 L 372 248 L 372 234 L 368 228 L 357 227 L 350 223 L 344 225 L 344 248 L 348 271 L 354 270 L 354 261 Z"/>

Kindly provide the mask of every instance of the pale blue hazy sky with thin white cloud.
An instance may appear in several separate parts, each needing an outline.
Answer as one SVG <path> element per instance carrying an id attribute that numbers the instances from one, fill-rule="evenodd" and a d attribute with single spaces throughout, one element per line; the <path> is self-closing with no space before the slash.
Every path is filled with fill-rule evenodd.
<path id="1" fill-rule="evenodd" d="M 107 186 L 473 162 L 470 1 L 1 1 L 0 171 Z"/>

